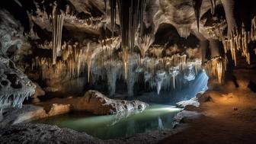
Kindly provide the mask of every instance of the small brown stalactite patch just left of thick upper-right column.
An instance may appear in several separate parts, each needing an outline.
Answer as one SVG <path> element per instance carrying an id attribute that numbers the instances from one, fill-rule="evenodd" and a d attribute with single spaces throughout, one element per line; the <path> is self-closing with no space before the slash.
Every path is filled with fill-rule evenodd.
<path id="1" fill-rule="evenodd" d="M 223 32 L 226 27 L 226 20 L 221 19 L 220 23 L 214 23 L 212 27 L 206 27 L 206 32 L 211 38 L 222 41 L 224 39 Z"/>

